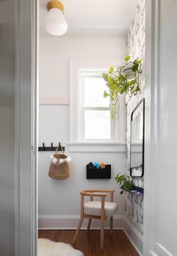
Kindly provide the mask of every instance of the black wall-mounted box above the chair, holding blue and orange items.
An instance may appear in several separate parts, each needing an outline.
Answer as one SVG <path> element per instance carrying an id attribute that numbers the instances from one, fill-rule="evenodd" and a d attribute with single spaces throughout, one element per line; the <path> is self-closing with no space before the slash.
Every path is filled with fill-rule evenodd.
<path id="1" fill-rule="evenodd" d="M 91 168 L 88 164 L 86 166 L 87 179 L 111 179 L 111 164 L 107 164 L 104 169 Z"/>

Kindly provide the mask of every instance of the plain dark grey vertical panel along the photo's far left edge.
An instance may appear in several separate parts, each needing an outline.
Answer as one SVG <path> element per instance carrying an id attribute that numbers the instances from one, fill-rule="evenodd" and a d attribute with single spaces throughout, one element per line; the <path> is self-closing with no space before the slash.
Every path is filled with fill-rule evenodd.
<path id="1" fill-rule="evenodd" d="M 14 8 L 0 2 L 0 255 L 14 255 Z"/>

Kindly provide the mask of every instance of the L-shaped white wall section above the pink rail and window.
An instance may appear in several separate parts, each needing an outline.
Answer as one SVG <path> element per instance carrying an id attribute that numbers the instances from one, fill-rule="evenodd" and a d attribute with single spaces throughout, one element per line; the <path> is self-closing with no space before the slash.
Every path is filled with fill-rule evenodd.
<path id="1" fill-rule="evenodd" d="M 40 97 L 68 97 L 71 59 L 124 59 L 124 38 L 40 38 Z"/>

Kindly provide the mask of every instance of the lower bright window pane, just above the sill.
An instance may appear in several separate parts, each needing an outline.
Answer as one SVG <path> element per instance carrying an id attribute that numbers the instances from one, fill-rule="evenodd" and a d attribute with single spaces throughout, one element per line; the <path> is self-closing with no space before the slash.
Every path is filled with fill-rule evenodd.
<path id="1" fill-rule="evenodd" d="M 109 110 L 85 110 L 85 139 L 110 139 Z"/>

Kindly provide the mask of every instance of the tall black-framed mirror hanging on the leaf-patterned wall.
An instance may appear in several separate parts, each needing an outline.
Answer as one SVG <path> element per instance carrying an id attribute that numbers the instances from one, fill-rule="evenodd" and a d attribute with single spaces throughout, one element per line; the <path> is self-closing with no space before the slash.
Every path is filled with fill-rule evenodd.
<path id="1" fill-rule="evenodd" d="M 130 116 L 130 176 L 144 175 L 145 100 L 139 102 Z"/>

